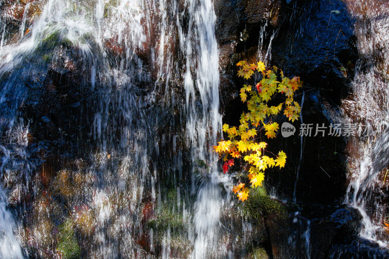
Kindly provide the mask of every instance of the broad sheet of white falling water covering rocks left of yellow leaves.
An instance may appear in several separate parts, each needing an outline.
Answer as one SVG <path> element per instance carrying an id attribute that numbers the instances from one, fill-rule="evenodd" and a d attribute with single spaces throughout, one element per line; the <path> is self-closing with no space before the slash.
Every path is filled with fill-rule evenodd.
<path id="1" fill-rule="evenodd" d="M 150 233 L 144 229 L 151 222 L 149 211 L 159 211 L 166 199 L 158 174 L 176 179 L 177 172 L 180 181 L 190 176 L 193 186 L 188 193 L 175 186 L 174 210 L 182 215 L 183 237 L 192 247 L 186 256 L 233 255 L 227 248 L 229 232 L 220 222 L 231 206 L 230 195 L 223 193 L 230 179 L 219 175 L 212 152 L 221 129 L 212 1 L 47 0 L 39 2 L 31 18 L 32 4 L 27 4 L 15 38 L 7 23 L 0 23 L 1 174 L 11 176 L 1 190 L 1 238 L 9 244 L 1 246 L 4 258 L 22 258 L 19 244 L 26 253 L 55 257 L 51 240 L 69 224 L 89 237 L 82 252 L 89 258 L 137 258 L 145 253 L 141 245 L 155 252 L 160 236 L 162 257 L 171 257 L 173 226 L 164 231 L 157 225 Z M 71 73 L 76 76 L 67 79 Z M 51 127 L 49 133 L 58 136 L 56 146 L 50 146 L 44 144 L 46 130 L 30 132 L 24 116 L 32 116 L 30 110 L 39 102 L 56 103 L 44 99 L 45 94 L 66 87 L 74 88 L 79 102 L 64 104 L 69 111 L 54 107 L 59 115 L 39 108 L 40 115 L 31 120 L 36 129 Z M 29 96 L 34 91 L 42 91 L 36 100 Z M 66 101 L 69 96 L 56 98 Z M 20 132 L 23 138 L 18 138 Z M 161 153 L 164 147 L 173 153 Z M 182 172 L 186 149 L 190 172 Z M 42 156 L 49 150 L 54 150 L 50 156 Z M 207 172 L 196 172 L 198 161 L 204 161 Z M 20 198 L 29 192 L 36 202 Z M 17 211 L 8 210 L 6 196 L 19 197 L 9 202 Z M 23 224 L 32 231 L 27 233 Z M 66 247 L 58 241 L 58 249 Z"/>

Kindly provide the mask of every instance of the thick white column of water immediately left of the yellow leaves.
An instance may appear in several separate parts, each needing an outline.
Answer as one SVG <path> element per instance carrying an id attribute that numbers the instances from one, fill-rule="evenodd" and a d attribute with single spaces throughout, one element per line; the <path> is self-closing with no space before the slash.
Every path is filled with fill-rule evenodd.
<path id="1" fill-rule="evenodd" d="M 195 202 L 194 250 L 192 258 L 220 257 L 227 250 L 219 242 L 218 225 L 223 200 L 217 170 L 217 155 L 212 152 L 221 129 L 219 114 L 219 65 L 214 33 L 216 16 L 210 0 L 189 2 L 189 29 L 186 47 L 186 108 L 187 132 L 191 143 L 192 160 L 205 160 L 210 165 L 211 181 L 200 183 Z M 191 73 L 193 71 L 193 73 Z M 195 92 L 199 100 L 195 99 Z M 204 180 L 200 180 L 204 181 Z M 205 179 L 208 181 L 208 179 Z M 197 181 L 193 181 L 197 184 Z M 194 188 L 195 189 L 195 188 Z M 213 253 L 213 254 L 212 254 Z M 217 256 L 216 256 L 217 255 Z"/>

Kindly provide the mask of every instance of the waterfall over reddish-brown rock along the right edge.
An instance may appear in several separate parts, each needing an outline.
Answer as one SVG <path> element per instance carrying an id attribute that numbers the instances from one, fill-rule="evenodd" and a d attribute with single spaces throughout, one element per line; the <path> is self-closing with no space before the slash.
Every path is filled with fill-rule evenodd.
<path id="1" fill-rule="evenodd" d="M 350 1 L 348 5 L 356 17 L 359 61 L 352 97 L 343 101 L 343 107 L 347 121 L 361 125 L 358 132 L 362 136 L 349 141 L 350 183 L 345 202 L 358 208 L 363 216 L 360 236 L 387 246 L 380 236 L 386 221 L 387 208 L 382 203 L 389 164 L 389 7 L 385 1 Z"/>

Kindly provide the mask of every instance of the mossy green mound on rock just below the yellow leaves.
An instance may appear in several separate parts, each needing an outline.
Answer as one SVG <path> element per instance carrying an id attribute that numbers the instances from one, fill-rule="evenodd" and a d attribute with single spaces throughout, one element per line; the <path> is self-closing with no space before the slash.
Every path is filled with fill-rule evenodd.
<path id="1" fill-rule="evenodd" d="M 242 205 L 243 211 L 255 220 L 261 221 L 271 213 L 280 216 L 286 215 L 286 208 L 283 204 L 271 199 L 266 192 L 265 187 L 256 187 L 250 189 L 248 200 Z"/>

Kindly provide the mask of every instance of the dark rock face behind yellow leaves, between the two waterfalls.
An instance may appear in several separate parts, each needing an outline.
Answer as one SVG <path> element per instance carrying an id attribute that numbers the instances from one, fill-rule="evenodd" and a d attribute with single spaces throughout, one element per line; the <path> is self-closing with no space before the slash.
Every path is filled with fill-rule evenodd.
<path id="1" fill-rule="evenodd" d="M 314 127 L 324 123 L 327 128 L 331 123 L 337 123 L 341 117 L 338 105 L 350 91 L 354 64 L 358 57 L 354 19 L 346 5 L 337 0 L 290 3 L 262 1 L 261 4 L 269 8 L 267 13 L 256 14 L 255 19 L 251 19 L 249 17 L 252 16 L 247 13 L 242 2 L 229 2 L 225 9 L 220 7 L 221 3 L 216 2 L 215 9 L 219 20 L 225 21 L 224 27 L 219 30 L 221 33 L 217 34 L 223 71 L 221 109 L 225 114 L 225 122 L 237 124 L 238 120 L 234 117 L 239 117 L 243 111 L 237 91 L 245 82 L 236 77 L 234 64 L 239 60 L 255 62 L 258 52 L 270 46 L 269 64 L 280 67 L 288 76 L 299 75 L 304 82 L 304 88 L 297 96 L 301 103 L 302 92 L 305 92 L 303 123 L 313 124 Z M 232 12 L 233 8 L 236 9 Z M 256 12 L 256 8 L 253 10 Z M 263 7 L 263 10 L 266 8 Z M 268 19 L 265 13 L 270 12 L 271 16 L 273 12 L 277 13 L 277 22 L 265 26 L 264 20 Z M 242 19 L 233 20 L 236 16 Z M 239 27 L 238 21 L 244 26 Z M 227 32 L 233 32 L 235 36 L 227 38 Z M 258 44 L 259 37 L 262 37 L 263 46 Z M 229 103 L 232 108 L 229 108 Z M 313 137 L 316 133 L 314 128 L 312 136 L 303 139 L 303 156 L 300 161 L 301 139 L 298 135 L 301 121 L 296 121 L 294 125 L 297 128 L 295 137 L 285 139 L 278 136 L 278 140 L 269 142 L 286 152 L 288 162 L 282 172 L 269 171 L 267 181 L 273 186 L 278 185 L 280 193 L 291 196 L 299 171 L 296 190 L 298 201 L 338 204 L 338 200 L 343 198 L 346 185 L 344 150 L 347 139 L 328 136 L 328 129 L 324 137 Z"/>

